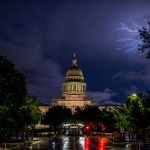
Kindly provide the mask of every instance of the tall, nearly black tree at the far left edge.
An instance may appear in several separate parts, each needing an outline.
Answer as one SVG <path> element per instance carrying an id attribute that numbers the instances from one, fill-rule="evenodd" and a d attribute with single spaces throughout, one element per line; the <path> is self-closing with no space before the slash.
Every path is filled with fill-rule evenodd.
<path id="1" fill-rule="evenodd" d="M 0 130 L 8 136 L 14 131 L 19 108 L 24 104 L 27 94 L 26 78 L 1 54 L 0 70 Z"/>

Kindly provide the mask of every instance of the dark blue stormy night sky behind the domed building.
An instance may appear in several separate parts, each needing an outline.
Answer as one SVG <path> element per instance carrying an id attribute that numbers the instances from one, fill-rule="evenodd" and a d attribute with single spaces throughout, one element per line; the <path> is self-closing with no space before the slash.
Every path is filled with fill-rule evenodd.
<path id="1" fill-rule="evenodd" d="M 74 53 L 97 103 L 125 102 L 150 89 L 150 61 L 120 38 L 131 20 L 143 26 L 150 0 L 1 0 L 0 53 L 26 76 L 29 92 L 50 104 L 61 97 Z M 150 19 L 148 20 L 150 21 Z"/>

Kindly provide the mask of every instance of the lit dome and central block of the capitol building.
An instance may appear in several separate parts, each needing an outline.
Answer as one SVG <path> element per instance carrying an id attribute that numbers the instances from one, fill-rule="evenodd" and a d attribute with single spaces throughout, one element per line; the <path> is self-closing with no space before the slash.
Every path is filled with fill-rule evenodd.
<path id="1" fill-rule="evenodd" d="M 86 97 L 86 86 L 83 73 L 77 65 L 77 59 L 74 54 L 72 65 L 62 83 L 62 96 L 61 98 L 53 99 L 51 106 L 65 106 L 75 112 L 77 107 L 82 109 L 87 105 L 94 105 L 94 100 Z"/>

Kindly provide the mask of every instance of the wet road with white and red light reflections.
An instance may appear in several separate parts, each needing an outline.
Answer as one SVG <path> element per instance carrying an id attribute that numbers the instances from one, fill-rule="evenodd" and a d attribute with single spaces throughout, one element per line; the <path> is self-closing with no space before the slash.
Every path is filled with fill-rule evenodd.
<path id="1" fill-rule="evenodd" d="M 28 148 L 27 148 L 28 147 Z M 53 139 L 39 138 L 24 149 L 40 150 L 129 150 L 129 144 L 111 143 L 106 138 L 86 136 L 59 136 Z"/>

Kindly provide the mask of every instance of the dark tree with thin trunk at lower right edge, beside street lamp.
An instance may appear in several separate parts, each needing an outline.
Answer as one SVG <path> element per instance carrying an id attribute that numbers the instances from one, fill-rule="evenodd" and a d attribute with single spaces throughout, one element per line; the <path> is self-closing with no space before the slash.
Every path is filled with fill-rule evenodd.
<path id="1" fill-rule="evenodd" d="M 128 97 L 126 105 L 130 109 L 132 123 L 143 130 L 145 144 L 146 130 L 150 126 L 150 95 L 131 95 Z"/>

